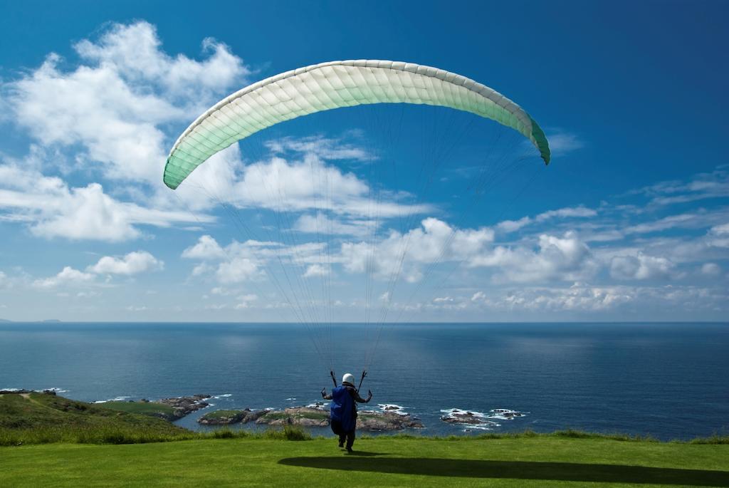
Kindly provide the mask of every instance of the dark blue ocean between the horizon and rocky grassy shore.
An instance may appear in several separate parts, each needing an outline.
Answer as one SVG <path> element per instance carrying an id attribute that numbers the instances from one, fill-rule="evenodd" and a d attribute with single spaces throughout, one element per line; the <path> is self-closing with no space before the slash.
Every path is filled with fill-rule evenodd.
<path id="1" fill-rule="evenodd" d="M 0 389 L 85 401 L 197 393 L 217 408 L 283 408 L 358 379 L 367 408 L 401 406 L 426 435 L 574 428 L 663 440 L 727 434 L 728 323 L 0 323 Z M 483 424 L 441 420 L 453 408 Z M 521 417 L 494 412 L 508 409 Z M 327 430 L 316 432 L 326 435 Z"/>

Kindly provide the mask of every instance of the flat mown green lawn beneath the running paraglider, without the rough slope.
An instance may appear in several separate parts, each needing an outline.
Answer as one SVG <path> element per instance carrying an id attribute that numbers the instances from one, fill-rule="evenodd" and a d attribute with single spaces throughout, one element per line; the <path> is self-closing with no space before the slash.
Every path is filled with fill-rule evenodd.
<path id="1" fill-rule="evenodd" d="M 523 437 L 0 448 L 0 486 L 729 487 L 729 445 Z"/>

